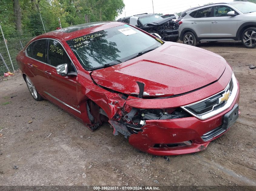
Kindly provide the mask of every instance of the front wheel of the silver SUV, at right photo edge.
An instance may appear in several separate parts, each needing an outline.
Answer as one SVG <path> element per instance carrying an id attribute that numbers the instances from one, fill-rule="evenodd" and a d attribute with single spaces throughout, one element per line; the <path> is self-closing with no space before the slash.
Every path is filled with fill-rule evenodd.
<path id="1" fill-rule="evenodd" d="M 242 43 L 246 48 L 256 47 L 256 27 L 245 29 L 242 33 Z"/>

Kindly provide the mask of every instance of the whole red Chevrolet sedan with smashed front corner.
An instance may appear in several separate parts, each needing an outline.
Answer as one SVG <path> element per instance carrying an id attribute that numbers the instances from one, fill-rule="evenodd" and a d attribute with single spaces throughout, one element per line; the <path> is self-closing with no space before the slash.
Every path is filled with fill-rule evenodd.
<path id="1" fill-rule="evenodd" d="M 221 56 L 121 22 L 42 34 L 16 59 L 35 100 L 92 131 L 108 122 L 150 154 L 202 151 L 238 118 L 239 84 Z"/>

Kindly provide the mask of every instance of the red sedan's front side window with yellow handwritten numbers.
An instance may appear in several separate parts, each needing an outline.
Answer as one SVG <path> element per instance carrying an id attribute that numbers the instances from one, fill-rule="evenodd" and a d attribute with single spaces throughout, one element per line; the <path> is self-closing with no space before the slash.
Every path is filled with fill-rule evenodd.
<path id="1" fill-rule="evenodd" d="M 56 40 L 49 40 L 48 44 L 48 64 L 56 67 L 59 64 L 68 64 L 69 71 L 75 72 L 67 53 Z"/>

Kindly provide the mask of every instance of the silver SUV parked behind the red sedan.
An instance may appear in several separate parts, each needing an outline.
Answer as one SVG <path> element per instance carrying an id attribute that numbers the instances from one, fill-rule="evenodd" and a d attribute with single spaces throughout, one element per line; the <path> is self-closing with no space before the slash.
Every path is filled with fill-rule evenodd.
<path id="1" fill-rule="evenodd" d="M 246 48 L 256 47 L 255 3 L 234 1 L 202 6 L 188 11 L 179 24 L 179 39 L 184 44 L 241 40 Z"/>

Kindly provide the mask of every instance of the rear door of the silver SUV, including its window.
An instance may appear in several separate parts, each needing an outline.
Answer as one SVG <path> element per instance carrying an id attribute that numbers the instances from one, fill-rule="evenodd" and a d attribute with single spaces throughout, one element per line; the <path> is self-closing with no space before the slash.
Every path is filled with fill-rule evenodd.
<path id="1" fill-rule="evenodd" d="M 212 7 L 208 7 L 189 14 L 192 17 L 190 27 L 196 32 L 199 38 L 211 37 L 211 10 Z"/>

